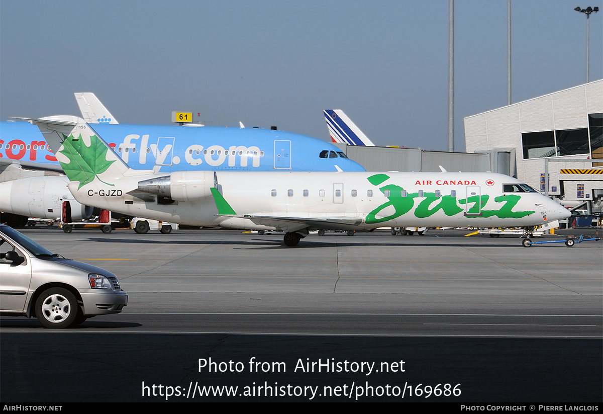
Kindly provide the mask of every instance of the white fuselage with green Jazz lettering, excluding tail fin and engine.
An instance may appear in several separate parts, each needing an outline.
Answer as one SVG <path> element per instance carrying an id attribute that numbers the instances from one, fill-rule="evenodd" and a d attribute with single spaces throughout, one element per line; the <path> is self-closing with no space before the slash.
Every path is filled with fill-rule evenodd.
<path id="1" fill-rule="evenodd" d="M 515 191 L 504 191 L 504 184 L 522 183 L 493 173 L 222 171 L 216 173 L 217 188 L 230 212 L 224 212 L 214 197 L 158 202 L 161 197 L 137 190 L 138 182 L 162 175 L 130 170 L 125 177 L 115 177 L 114 186 L 96 179 L 79 189 L 78 182 L 72 182 L 69 188 L 80 203 L 122 214 L 242 229 L 300 228 L 283 224 L 279 217 L 289 221 L 308 218 L 307 222 L 314 223 L 305 226 L 310 229 L 360 230 L 382 226 L 535 226 L 568 215 L 558 203 L 535 191 L 518 192 L 518 186 Z M 324 223 L 317 225 L 314 219 Z M 346 219 L 356 221 L 350 224 Z"/>

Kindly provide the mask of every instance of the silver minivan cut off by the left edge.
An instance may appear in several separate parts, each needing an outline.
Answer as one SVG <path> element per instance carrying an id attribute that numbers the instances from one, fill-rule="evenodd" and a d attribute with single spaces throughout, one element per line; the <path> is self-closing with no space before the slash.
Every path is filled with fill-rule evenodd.
<path id="1" fill-rule="evenodd" d="M 119 313 L 128 294 L 117 277 L 52 253 L 0 225 L 0 314 L 37 317 L 46 328 L 68 328 L 89 317 Z"/>

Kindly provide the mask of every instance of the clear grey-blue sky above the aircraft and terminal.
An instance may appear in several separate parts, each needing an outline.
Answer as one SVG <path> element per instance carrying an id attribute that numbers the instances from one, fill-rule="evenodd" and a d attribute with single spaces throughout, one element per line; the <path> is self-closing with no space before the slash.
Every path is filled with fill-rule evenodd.
<path id="1" fill-rule="evenodd" d="M 582 0 L 581 0 L 582 1 Z M 586 82 L 586 16 L 513 0 L 513 102 Z M 0 119 L 78 115 L 94 92 L 121 123 L 213 126 L 328 139 L 343 109 L 377 145 L 447 149 L 447 0 L 0 1 Z M 455 2 L 455 150 L 463 117 L 507 104 L 507 0 Z M 603 11 L 590 80 L 603 78 Z"/>

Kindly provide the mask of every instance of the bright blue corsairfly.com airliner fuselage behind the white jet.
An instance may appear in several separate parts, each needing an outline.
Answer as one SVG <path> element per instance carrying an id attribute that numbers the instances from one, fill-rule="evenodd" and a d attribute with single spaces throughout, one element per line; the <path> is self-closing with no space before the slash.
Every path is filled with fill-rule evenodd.
<path id="1" fill-rule="evenodd" d="M 93 129 L 136 169 L 364 171 L 335 145 L 279 130 L 124 124 Z M 0 123 L 0 160 L 60 168 L 40 130 L 20 121 Z"/>

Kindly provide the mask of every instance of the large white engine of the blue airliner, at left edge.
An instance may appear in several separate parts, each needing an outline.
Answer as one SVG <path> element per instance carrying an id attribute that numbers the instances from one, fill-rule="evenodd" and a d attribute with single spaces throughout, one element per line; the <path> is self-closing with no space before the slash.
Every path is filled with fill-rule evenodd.
<path id="1" fill-rule="evenodd" d="M 57 220 L 63 201 L 71 203 L 72 220 L 92 217 L 93 208 L 75 201 L 65 176 L 22 178 L 0 183 L 0 211 L 25 217 Z"/>

